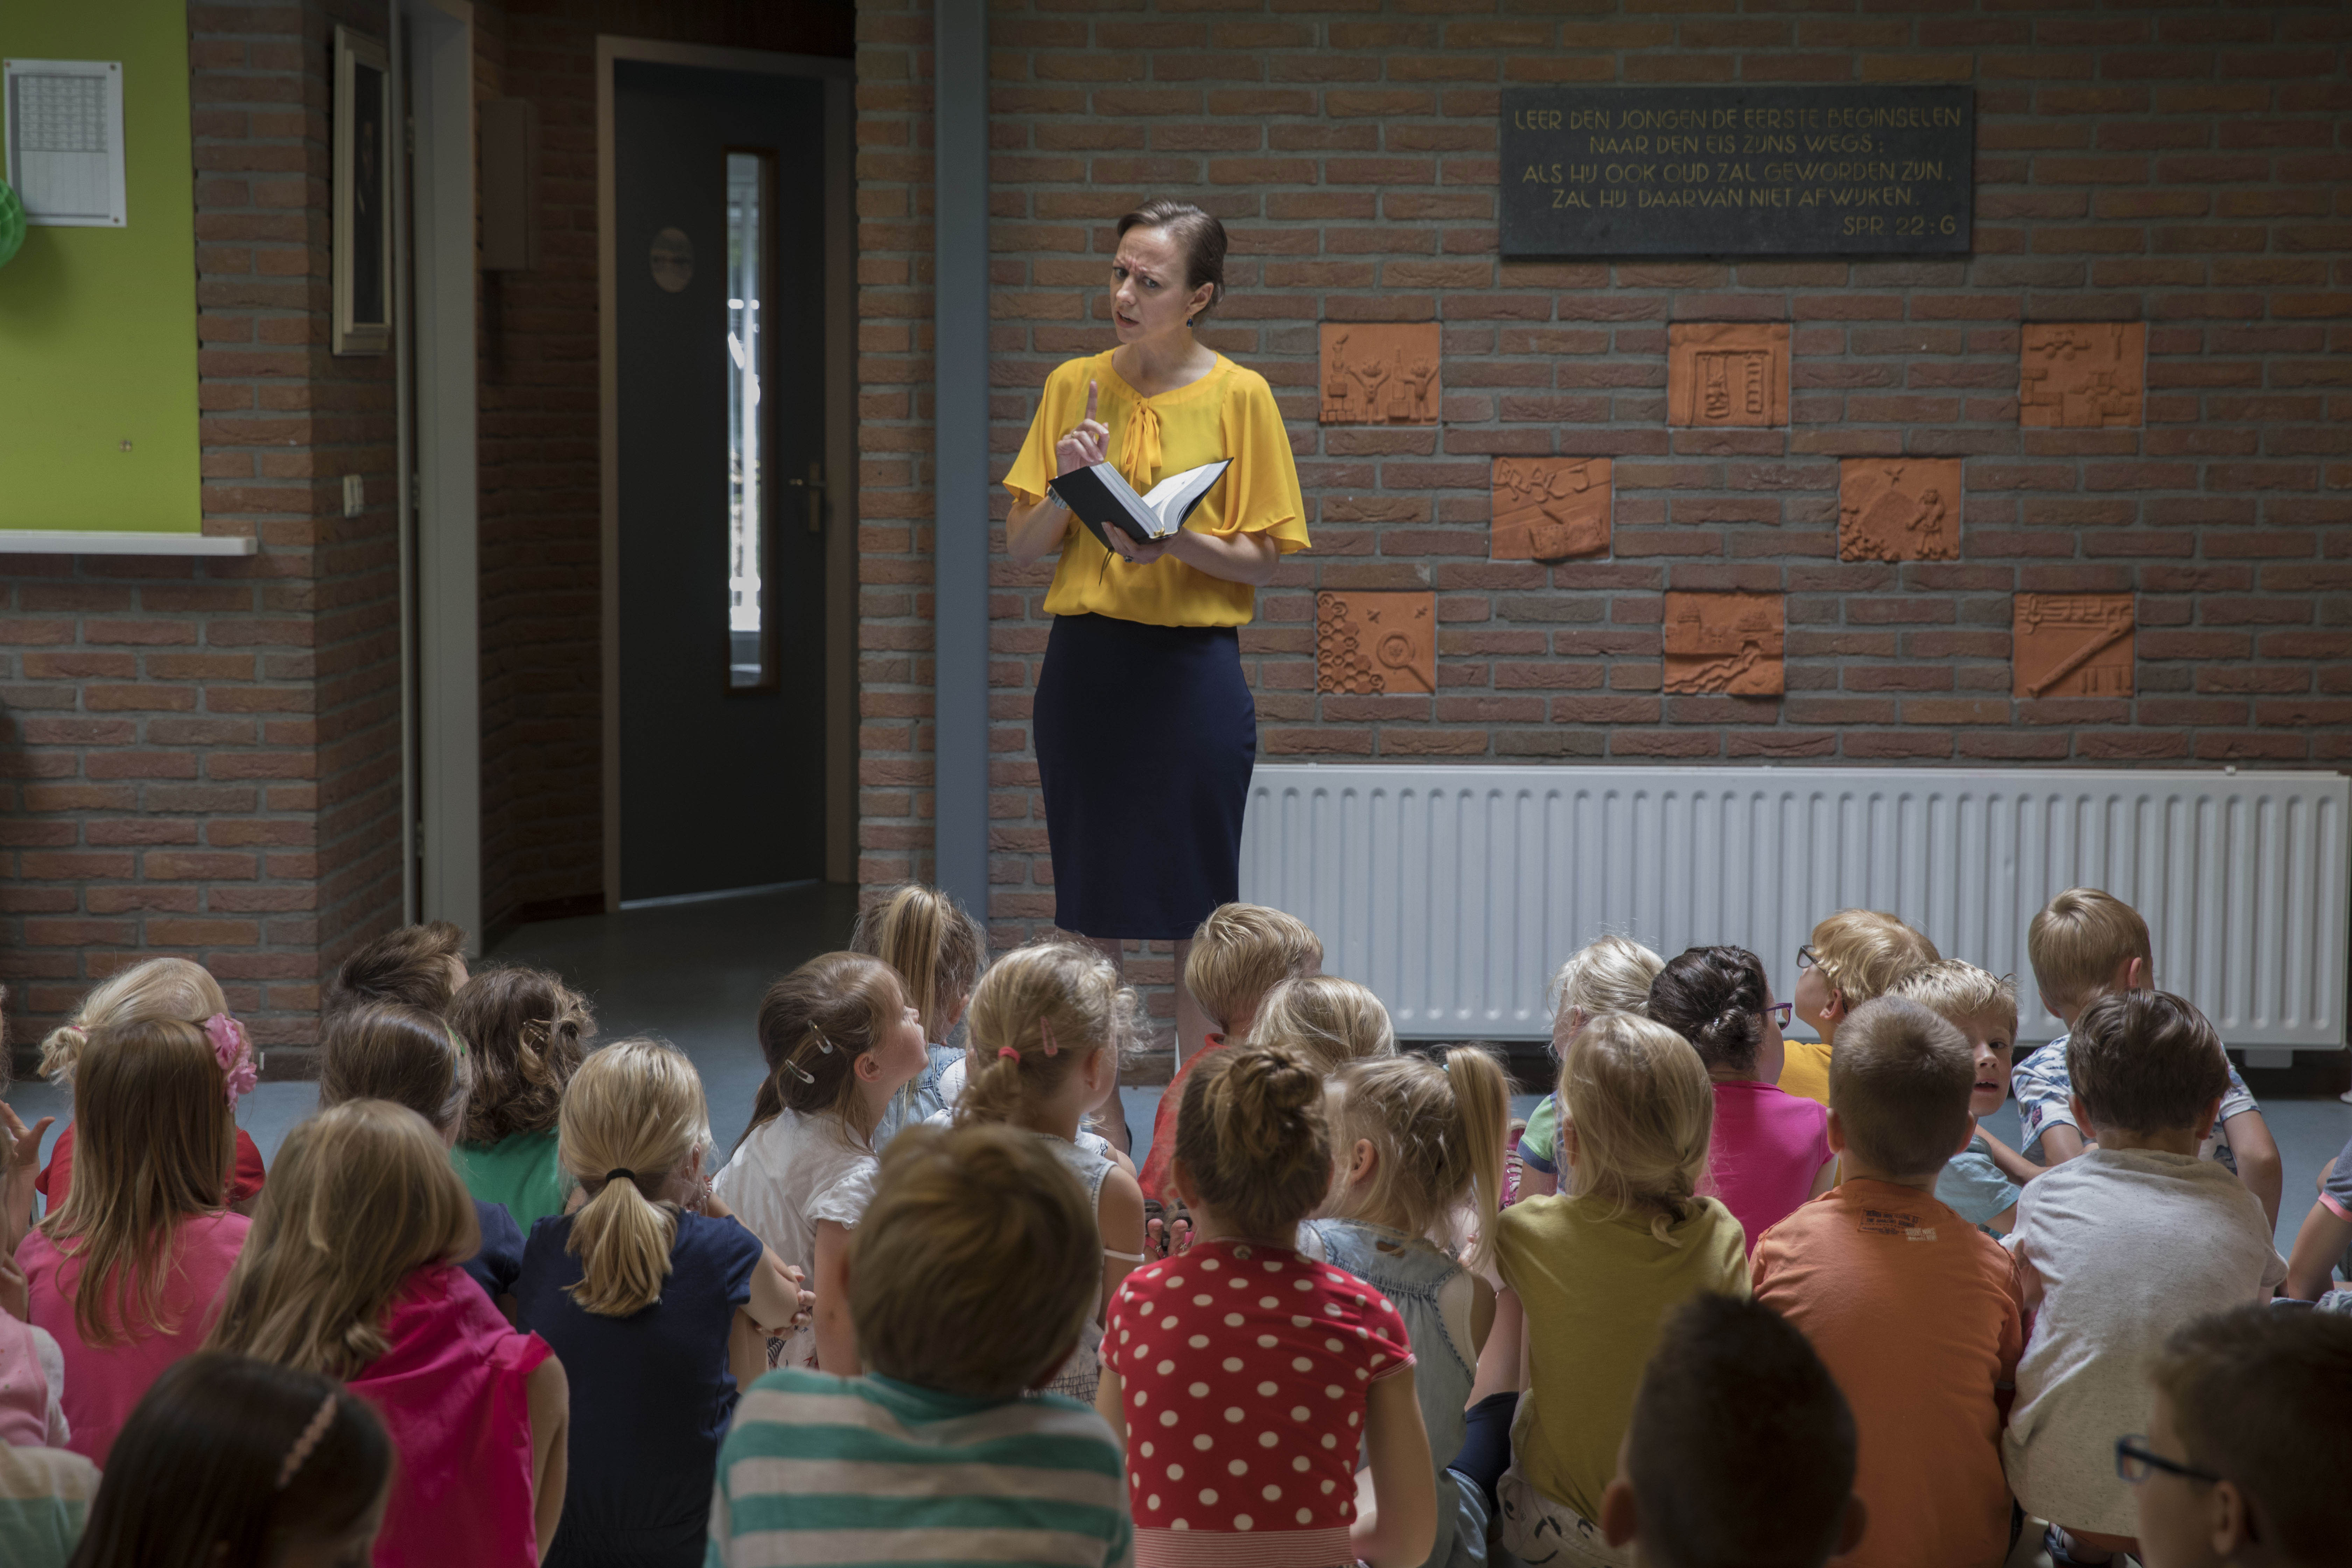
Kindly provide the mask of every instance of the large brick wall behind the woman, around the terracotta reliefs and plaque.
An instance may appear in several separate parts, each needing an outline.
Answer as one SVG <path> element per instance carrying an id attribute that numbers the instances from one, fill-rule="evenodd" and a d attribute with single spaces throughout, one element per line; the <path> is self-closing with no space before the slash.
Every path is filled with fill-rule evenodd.
<path id="1" fill-rule="evenodd" d="M 1112 343 L 1110 221 L 1145 195 L 1223 216 L 1204 339 L 1272 381 L 1315 531 L 1242 632 L 1261 757 L 2352 759 L 2340 7 L 1562 9 L 993 9 L 997 475 L 1047 371 Z M 929 844 L 927 40 L 924 5 L 861 5 L 866 882 Z M 1515 82 L 1969 82 L 1976 252 L 1505 263 Z M 1442 322 L 1442 425 L 1317 428 L 1317 322 L 1397 320 Z M 1717 320 L 1792 324 L 1785 430 L 1668 430 L 1668 322 Z M 2020 430 L 2025 320 L 2150 322 L 2145 428 Z M 1837 456 L 1891 451 L 1966 458 L 1959 562 L 1837 559 Z M 1489 562 L 1498 454 L 1613 456 L 1613 555 Z M 993 574 L 1002 938 L 1051 919 L 1025 729 L 1047 581 Z M 1435 590 L 1439 693 L 1317 696 L 1317 588 Z M 1788 595 L 1785 701 L 1665 696 L 1668 588 Z M 2011 701 L 2020 590 L 2136 590 L 2138 696 Z"/>

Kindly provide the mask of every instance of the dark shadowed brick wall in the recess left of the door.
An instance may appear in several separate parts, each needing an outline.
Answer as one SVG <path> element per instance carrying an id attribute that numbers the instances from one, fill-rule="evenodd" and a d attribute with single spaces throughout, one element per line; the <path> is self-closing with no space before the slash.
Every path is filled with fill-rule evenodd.
<path id="1" fill-rule="evenodd" d="M 847 2 L 475 7 L 485 96 L 539 106 L 541 261 L 482 277 L 482 922 L 604 907 L 595 35 L 835 54 Z"/>

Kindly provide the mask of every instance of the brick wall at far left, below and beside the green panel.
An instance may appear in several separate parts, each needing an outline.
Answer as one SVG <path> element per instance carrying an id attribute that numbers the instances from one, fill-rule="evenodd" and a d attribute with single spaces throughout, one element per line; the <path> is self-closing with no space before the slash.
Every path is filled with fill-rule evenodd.
<path id="1" fill-rule="evenodd" d="M 195 957 L 256 1039 L 400 917 L 393 362 L 327 355 L 329 40 L 381 5 L 191 7 L 207 534 L 249 559 L 0 557 L 0 978 L 19 1046 Z M 341 475 L 369 508 L 341 517 Z M 301 1072 L 299 1051 L 270 1072 Z"/>

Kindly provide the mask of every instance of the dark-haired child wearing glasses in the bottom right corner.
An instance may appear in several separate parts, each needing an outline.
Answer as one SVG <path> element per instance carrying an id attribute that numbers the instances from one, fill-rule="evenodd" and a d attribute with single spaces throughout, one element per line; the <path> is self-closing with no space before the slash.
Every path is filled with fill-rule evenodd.
<path id="1" fill-rule="evenodd" d="M 2352 1321 L 2239 1307 L 2173 1331 L 2114 1441 L 2145 1568 L 2321 1568 L 2352 1542 Z"/>

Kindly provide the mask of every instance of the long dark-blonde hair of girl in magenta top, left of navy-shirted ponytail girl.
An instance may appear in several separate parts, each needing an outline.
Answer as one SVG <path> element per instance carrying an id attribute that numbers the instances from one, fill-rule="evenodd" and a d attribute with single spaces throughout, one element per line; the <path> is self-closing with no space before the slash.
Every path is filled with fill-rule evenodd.
<path id="1" fill-rule="evenodd" d="M 466 1182 L 423 1117 L 390 1100 L 332 1105 L 278 1150 L 212 1347 L 350 1378 L 390 1349 L 383 1312 L 409 1274 L 480 1246 Z"/>

